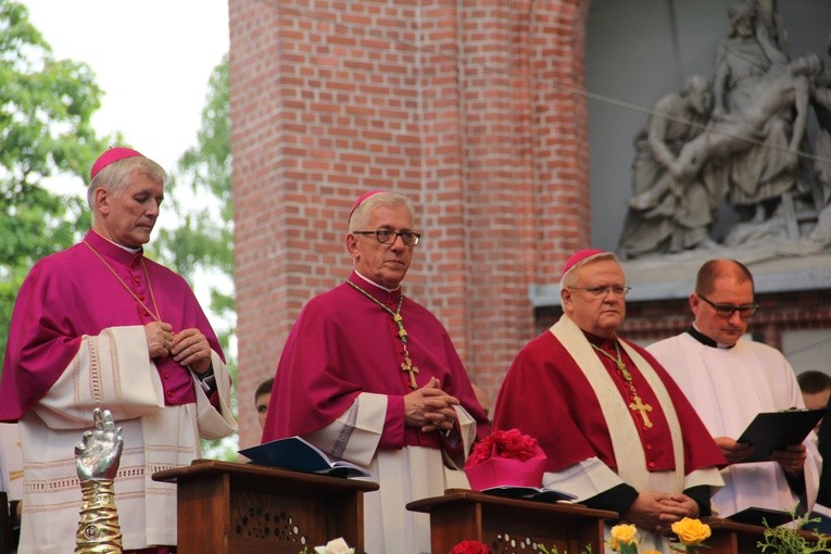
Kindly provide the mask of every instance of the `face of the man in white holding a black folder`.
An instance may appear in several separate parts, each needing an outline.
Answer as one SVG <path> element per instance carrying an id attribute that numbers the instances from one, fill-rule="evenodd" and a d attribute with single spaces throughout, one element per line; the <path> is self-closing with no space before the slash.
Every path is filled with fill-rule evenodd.
<path id="1" fill-rule="evenodd" d="M 714 281 L 713 292 L 705 295 L 714 304 L 752 304 L 753 284 L 750 280 L 740 282 L 734 275 L 725 275 Z M 730 317 L 720 316 L 695 293 L 690 295 L 690 309 L 695 314 L 698 330 L 719 344 L 731 347 L 747 332 L 750 318 L 742 318 L 739 312 L 733 312 Z"/>

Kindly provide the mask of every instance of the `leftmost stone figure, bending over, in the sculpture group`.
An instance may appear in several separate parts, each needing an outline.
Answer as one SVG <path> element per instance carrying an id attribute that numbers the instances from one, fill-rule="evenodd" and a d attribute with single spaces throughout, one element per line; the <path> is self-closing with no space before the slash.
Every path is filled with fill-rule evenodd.
<path id="1" fill-rule="evenodd" d="M 678 252 L 712 242 L 708 227 L 721 198 L 710 172 L 679 173 L 681 148 L 701 135 L 712 108 L 707 79 L 692 76 L 665 96 L 635 138 L 632 192 L 618 244 L 621 257 Z"/>

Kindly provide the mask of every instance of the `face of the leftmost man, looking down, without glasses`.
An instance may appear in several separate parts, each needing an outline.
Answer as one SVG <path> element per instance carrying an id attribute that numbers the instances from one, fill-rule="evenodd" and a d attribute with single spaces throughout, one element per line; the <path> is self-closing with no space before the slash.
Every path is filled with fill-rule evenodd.
<path id="1" fill-rule="evenodd" d="M 150 241 L 164 200 L 164 186 L 141 173 L 133 173 L 117 196 L 99 188 L 95 198 L 96 232 L 116 244 L 137 248 Z"/>

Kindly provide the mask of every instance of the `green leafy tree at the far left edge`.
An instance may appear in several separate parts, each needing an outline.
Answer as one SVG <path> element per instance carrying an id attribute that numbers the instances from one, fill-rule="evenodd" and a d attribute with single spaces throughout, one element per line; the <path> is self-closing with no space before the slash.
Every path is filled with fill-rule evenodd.
<path id="1" fill-rule="evenodd" d="M 84 185 L 106 143 L 90 123 L 100 98 L 89 66 L 55 60 L 28 10 L 0 0 L 0 355 L 26 273 L 90 225 L 83 200 L 45 181 L 62 175 Z"/>

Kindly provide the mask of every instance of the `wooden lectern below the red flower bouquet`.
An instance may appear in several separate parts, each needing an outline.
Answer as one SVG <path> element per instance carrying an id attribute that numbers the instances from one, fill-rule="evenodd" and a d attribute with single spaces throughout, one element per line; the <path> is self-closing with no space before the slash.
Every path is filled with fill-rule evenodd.
<path id="1" fill-rule="evenodd" d="M 569 554 L 587 546 L 603 552 L 604 521 L 618 518 L 616 512 L 578 504 L 505 499 L 465 489 L 411 502 L 407 509 L 430 514 L 430 543 L 439 554 L 465 540 L 481 541 L 491 552 L 504 554 L 542 552 L 538 545 Z"/>

